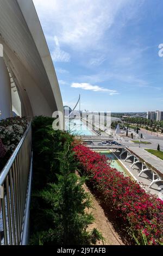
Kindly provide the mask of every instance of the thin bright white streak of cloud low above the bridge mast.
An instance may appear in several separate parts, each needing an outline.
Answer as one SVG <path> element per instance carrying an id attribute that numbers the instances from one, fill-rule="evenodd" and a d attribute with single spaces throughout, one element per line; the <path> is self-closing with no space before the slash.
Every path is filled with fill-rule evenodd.
<path id="1" fill-rule="evenodd" d="M 92 86 L 90 83 L 72 83 L 71 87 L 81 88 L 83 90 L 92 90 L 93 92 L 106 92 L 109 93 L 109 95 L 118 94 L 116 90 L 110 90 L 99 86 Z"/>

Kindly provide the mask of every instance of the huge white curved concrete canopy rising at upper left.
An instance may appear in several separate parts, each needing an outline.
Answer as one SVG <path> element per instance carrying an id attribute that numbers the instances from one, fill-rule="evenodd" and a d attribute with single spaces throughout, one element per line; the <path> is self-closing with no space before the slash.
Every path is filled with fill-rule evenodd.
<path id="1" fill-rule="evenodd" d="M 20 97 L 22 115 L 63 113 L 57 76 L 32 0 L 0 0 L 0 7 L 3 59 Z M 16 99 L 12 97 L 13 106 Z"/>

